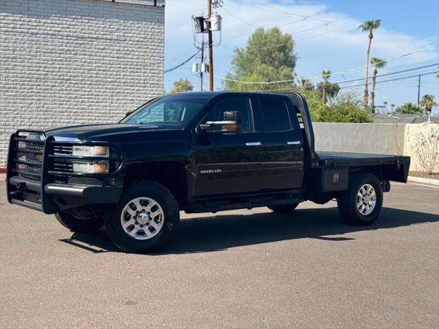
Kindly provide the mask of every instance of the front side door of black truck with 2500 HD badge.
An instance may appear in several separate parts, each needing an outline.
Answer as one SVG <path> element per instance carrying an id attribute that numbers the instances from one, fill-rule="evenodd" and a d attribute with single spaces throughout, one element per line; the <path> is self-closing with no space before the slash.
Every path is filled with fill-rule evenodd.
<path id="1" fill-rule="evenodd" d="M 241 112 L 241 134 L 197 130 L 195 196 L 255 192 L 265 186 L 257 98 L 237 95 L 219 100 L 200 123 L 222 121 L 224 111 Z"/>

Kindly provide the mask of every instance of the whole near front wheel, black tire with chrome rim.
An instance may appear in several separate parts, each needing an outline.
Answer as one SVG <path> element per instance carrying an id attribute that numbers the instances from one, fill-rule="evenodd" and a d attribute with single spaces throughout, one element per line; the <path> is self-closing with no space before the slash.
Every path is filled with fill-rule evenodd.
<path id="1" fill-rule="evenodd" d="M 106 208 L 108 237 L 124 252 L 156 252 L 176 234 L 180 212 L 165 186 L 143 180 L 128 186 L 119 204 Z"/>

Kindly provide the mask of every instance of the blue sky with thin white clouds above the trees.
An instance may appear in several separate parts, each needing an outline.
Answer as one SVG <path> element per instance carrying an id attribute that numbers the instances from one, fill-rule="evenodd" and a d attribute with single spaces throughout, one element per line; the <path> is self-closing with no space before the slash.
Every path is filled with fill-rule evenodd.
<path id="1" fill-rule="evenodd" d="M 165 7 L 165 70 L 184 62 L 197 49 L 193 45 L 192 15 L 206 15 L 206 0 L 166 0 Z M 364 77 L 368 36 L 358 26 L 362 21 L 381 19 L 374 33 L 371 57 L 388 60 L 379 74 L 403 71 L 439 63 L 438 0 L 224 0 L 213 10 L 222 16 L 222 32 L 214 32 L 213 71 L 215 89 L 222 88 L 222 79 L 230 72 L 233 49 L 244 47 L 256 27 L 278 26 L 292 34 L 298 56 L 297 76 L 321 80 L 322 69 L 329 69 L 331 82 Z M 195 34 L 201 41 L 202 35 Z M 207 39 L 207 36 L 205 35 Z M 409 54 L 410 53 L 410 54 Z M 407 56 L 403 56 L 408 54 Z M 401 57 L 402 56 L 402 57 Z M 194 90 L 200 90 L 200 78 L 191 72 L 189 60 L 179 69 L 165 74 L 165 90 L 174 80 L 187 77 Z M 407 77 L 438 70 L 438 65 L 390 75 L 381 80 Z M 372 69 L 370 68 L 370 75 Z M 439 101 L 439 79 L 434 74 L 421 76 L 420 94 L 433 94 Z M 379 81 L 379 80 L 378 80 Z M 208 79 L 204 79 L 204 89 Z M 362 82 L 342 84 L 343 90 L 362 93 Z M 375 104 L 383 101 L 401 105 L 417 101 L 418 77 L 377 84 Z M 362 94 L 361 94 L 362 95 Z M 390 108 L 390 106 L 388 106 Z"/>

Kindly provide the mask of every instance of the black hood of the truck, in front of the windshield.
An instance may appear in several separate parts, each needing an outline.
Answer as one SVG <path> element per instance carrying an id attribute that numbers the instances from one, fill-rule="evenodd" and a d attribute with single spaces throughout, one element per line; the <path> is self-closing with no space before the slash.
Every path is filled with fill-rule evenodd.
<path id="1" fill-rule="evenodd" d="M 45 131 L 47 136 L 54 136 L 56 140 L 80 140 L 90 141 L 99 140 L 102 137 L 109 137 L 119 134 L 132 134 L 137 132 L 152 132 L 173 130 L 169 127 L 159 127 L 158 125 L 132 125 L 126 123 L 104 123 L 96 125 L 73 125 L 69 127 L 56 127 Z"/>

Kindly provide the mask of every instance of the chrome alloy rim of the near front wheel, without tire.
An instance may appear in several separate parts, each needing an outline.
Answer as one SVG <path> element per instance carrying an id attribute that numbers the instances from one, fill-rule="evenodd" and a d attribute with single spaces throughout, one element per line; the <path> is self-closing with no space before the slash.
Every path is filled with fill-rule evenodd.
<path id="1" fill-rule="evenodd" d="M 156 236 L 163 227 L 165 213 L 154 199 L 137 197 L 132 199 L 121 213 L 123 230 L 132 239 L 147 240 Z"/>

